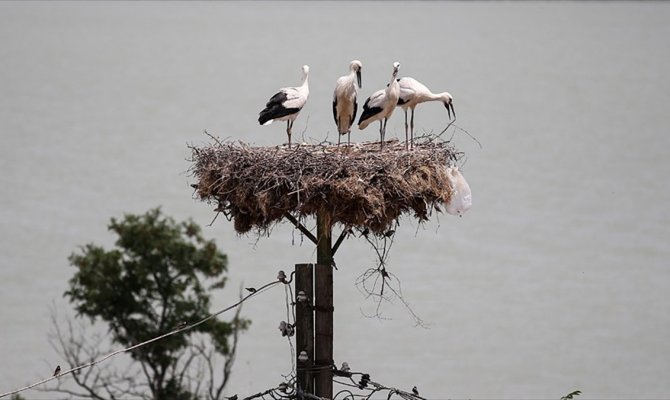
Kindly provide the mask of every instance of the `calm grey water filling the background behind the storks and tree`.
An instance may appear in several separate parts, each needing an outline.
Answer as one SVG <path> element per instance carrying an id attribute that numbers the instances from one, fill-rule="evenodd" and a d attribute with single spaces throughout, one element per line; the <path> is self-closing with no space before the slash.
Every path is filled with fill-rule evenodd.
<path id="1" fill-rule="evenodd" d="M 355 286 L 375 262 L 360 241 L 337 256 L 335 361 L 430 398 L 670 396 L 670 5 L 667 3 L 0 3 L 0 392 L 61 363 L 49 347 L 78 245 L 109 245 L 111 216 L 165 212 L 208 224 L 191 198 L 188 143 L 210 133 L 255 145 L 274 91 L 311 66 L 294 131 L 335 137 L 335 79 L 362 60 L 362 96 L 391 64 L 450 91 L 474 207 L 405 219 L 389 268 L 429 324 L 398 301 L 374 310 Z M 444 108 L 417 110 L 441 130 Z M 404 135 L 401 113 L 387 135 Z M 376 138 L 375 127 L 353 140 Z M 296 135 L 299 136 L 299 135 Z M 289 226 L 256 241 L 205 229 L 242 283 L 314 259 Z M 277 331 L 284 293 L 244 309 L 229 394 L 290 371 Z M 28 392 L 28 397 L 44 394 Z"/>

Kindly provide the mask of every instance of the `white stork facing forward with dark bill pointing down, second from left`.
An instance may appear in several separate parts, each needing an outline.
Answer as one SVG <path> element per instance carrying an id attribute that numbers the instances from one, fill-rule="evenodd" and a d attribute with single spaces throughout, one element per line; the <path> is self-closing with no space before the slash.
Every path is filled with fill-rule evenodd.
<path id="1" fill-rule="evenodd" d="M 333 118 L 337 125 L 337 145 L 340 145 L 340 137 L 347 136 L 347 143 L 351 143 L 351 125 L 356 121 L 358 103 L 356 102 L 356 83 L 361 88 L 361 64 L 353 60 L 349 64 L 349 74 L 341 76 L 335 82 L 333 92 Z"/>

